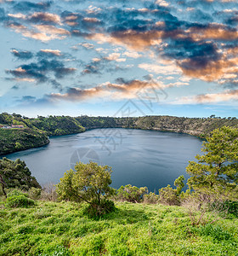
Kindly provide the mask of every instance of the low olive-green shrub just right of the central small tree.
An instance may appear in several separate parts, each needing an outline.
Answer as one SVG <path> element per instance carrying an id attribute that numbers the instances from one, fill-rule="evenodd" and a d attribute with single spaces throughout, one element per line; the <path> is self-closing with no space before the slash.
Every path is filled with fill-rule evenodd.
<path id="1" fill-rule="evenodd" d="M 121 201 L 141 202 L 143 200 L 143 196 L 147 193 L 148 189 L 146 187 L 138 188 L 128 184 L 117 190 L 116 197 Z"/>

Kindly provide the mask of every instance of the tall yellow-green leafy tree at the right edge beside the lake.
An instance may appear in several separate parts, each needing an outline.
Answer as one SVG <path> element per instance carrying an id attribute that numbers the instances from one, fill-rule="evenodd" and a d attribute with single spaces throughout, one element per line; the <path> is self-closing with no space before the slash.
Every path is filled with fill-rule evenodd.
<path id="1" fill-rule="evenodd" d="M 195 192 L 235 196 L 238 184 L 238 129 L 224 126 L 212 131 L 186 171 L 188 185 Z M 237 196 L 237 195 L 236 195 Z"/>

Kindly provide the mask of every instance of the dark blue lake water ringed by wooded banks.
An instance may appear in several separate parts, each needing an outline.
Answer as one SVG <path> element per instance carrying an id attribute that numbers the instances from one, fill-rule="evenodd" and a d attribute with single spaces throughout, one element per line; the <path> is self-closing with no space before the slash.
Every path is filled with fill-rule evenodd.
<path id="1" fill-rule="evenodd" d="M 185 167 L 201 154 L 201 140 L 186 134 L 130 129 L 95 129 L 84 133 L 51 137 L 42 148 L 8 154 L 26 161 L 39 183 L 59 183 L 59 178 L 81 160 L 112 167 L 112 186 L 132 184 L 150 191 L 173 185 L 188 177 Z"/>

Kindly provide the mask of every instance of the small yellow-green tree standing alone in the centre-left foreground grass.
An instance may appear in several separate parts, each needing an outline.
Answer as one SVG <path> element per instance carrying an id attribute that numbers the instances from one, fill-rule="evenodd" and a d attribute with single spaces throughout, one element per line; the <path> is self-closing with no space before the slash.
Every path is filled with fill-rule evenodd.
<path id="1" fill-rule="evenodd" d="M 113 193 L 111 184 L 111 167 L 99 166 L 90 161 L 88 164 L 77 163 L 75 170 L 65 172 L 56 185 L 56 192 L 61 200 L 86 201 L 94 208 L 96 215 L 105 212 L 110 205 L 105 201 Z"/>

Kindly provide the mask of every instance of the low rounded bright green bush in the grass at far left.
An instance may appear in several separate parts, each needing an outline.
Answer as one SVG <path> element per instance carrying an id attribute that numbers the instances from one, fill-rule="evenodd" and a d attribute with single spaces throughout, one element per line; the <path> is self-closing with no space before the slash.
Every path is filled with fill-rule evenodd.
<path id="1" fill-rule="evenodd" d="M 10 195 L 8 196 L 5 206 L 16 208 L 16 207 L 31 207 L 35 205 L 35 201 L 27 198 L 23 193 L 19 195 Z"/>

